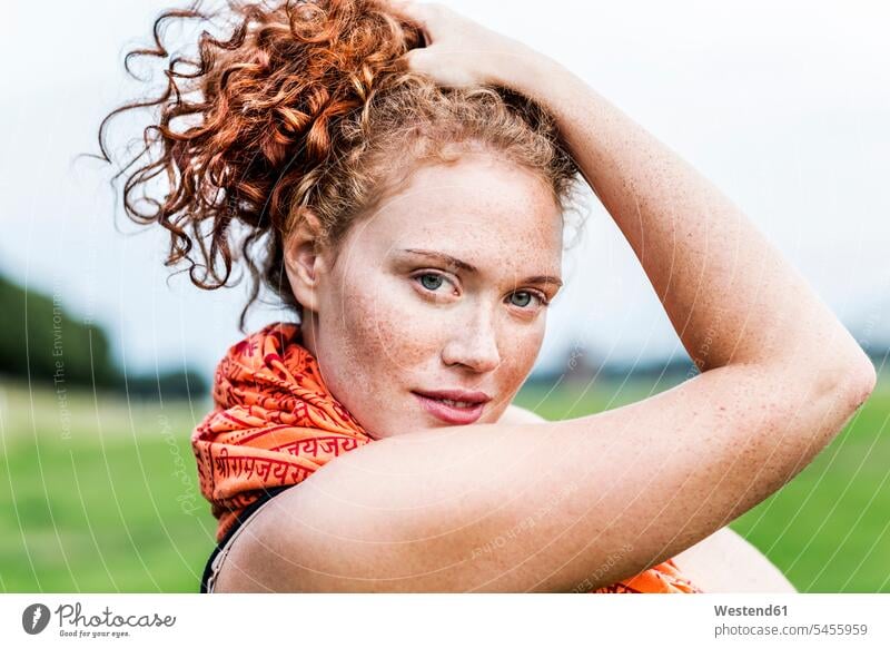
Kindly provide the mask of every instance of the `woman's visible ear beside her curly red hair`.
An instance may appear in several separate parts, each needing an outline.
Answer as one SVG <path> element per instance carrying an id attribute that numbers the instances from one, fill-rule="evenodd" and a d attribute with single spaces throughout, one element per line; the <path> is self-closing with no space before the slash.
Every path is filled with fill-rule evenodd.
<path id="1" fill-rule="evenodd" d="M 299 224 L 285 242 L 285 272 L 294 296 L 304 310 L 318 312 L 319 277 L 327 269 L 320 254 L 322 224 L 310 209 L 303 209 Z"/>

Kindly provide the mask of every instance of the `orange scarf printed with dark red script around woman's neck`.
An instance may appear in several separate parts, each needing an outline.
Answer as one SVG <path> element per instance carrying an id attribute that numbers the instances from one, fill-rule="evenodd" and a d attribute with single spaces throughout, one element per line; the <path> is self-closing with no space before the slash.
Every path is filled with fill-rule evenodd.
<path id="1" fill-rule="evenodd" d="M 299 325 L 274 323 L 229 348 L 214 379 L 214 411 L 191 434 L 201 493 L 220 541 L 266 489 L 298 484 L 373 441 L 328 392 Z M 669 560 L 596 593 L 698 592 Z"/>

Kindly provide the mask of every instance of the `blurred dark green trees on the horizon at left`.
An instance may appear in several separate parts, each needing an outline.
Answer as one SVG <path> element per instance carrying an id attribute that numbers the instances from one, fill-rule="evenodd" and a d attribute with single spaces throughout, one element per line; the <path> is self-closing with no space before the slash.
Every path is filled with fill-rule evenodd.
<path id="1" fill-rule="evenodd" d="M 190 369 L 125 376 L 100 326 L 73 317 L 58 296 L 26 291 L 0 275 L 0 377 L 4 375 L 136 397 L 204 397 L 208 392 L 205 377 Z"/>

